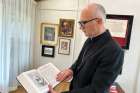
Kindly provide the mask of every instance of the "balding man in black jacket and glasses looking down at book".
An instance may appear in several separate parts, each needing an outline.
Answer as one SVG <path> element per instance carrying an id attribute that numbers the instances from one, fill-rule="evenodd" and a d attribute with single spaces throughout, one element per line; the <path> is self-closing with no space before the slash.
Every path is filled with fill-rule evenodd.
<path id="1" fill-rule="evenodd" d="M 70 90 L 63 93 L 108 93 L 120 74 L 124 52 L 106 30 L 105 19 L 100 4 L 88 4 L 81 11 L 80 29 L 88 39 L 76 62 L 57 76 L 58 81 L 72 79 Z M 49 89 L 50 93 L 58 93 L 51 86 Z"/>

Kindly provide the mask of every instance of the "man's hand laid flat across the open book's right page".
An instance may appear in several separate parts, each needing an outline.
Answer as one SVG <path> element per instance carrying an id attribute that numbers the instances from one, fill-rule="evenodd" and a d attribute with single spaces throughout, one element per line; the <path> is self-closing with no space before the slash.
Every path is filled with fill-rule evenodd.
<path id="1" fill-rule="evenodd" d="M 65 69 L 58 73 L 56 80 L 63 81 L 63 80 L 70 80 L 73 76 L 73 71 L 71 69 Z"/>

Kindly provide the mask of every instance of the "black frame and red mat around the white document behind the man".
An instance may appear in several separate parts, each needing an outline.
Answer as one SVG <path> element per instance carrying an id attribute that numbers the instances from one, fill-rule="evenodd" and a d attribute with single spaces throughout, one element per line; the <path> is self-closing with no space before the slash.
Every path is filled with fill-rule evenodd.
<path id="1" fill-rule="evenodd" d="M 129 49 L 129 43 L 130 43 L 130 37 L 131 37 L 131 30 L 132 30 L 132 24 L 133 24 L 133 15 L 115 15 L 115 14 L 107 14 L 106 16 L 107 20 L 120 20 L 120 21 L 126 21 L 127 20 L 127 25 L 126 25 L 126 32 L 125 32 L 125 38 L 122 37 L 113 37 L 120 46 L 123 49 Z"/>

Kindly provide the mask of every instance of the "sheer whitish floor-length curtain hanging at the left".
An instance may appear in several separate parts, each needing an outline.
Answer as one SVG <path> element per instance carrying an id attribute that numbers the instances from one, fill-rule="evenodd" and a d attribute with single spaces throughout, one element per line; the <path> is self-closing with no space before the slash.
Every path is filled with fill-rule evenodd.
<path id="1" fill-rule="evenodd" d="M 0 1 L 0 92 L 16 87 L 16 76 L 33 66 L 33 0 Z"/>

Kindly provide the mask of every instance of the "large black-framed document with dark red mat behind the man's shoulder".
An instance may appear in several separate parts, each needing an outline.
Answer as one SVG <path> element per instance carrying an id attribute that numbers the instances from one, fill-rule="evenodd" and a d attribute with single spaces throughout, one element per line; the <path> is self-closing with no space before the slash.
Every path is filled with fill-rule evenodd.
<path id="1" fill-rule="evenodd" d="M 133 15 L 107 14 L 106 27 L 123 49 L 129 49 Z"/>

